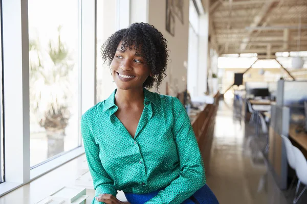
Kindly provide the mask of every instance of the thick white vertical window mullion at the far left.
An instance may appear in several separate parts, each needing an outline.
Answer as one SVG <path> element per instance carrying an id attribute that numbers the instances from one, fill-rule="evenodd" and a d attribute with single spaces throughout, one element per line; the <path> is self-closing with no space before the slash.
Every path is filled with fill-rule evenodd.
<path id="1" fill-rule="evenodd" d="M 6 182 L 30 181 L 28 0 L 3 0 Z"/>

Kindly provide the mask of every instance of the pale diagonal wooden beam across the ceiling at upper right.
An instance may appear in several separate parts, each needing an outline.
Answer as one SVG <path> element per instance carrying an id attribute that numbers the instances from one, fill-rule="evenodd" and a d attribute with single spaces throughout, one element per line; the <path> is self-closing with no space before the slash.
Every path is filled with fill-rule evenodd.
<path id="1" fill-rule="evenodd" d="M 262 8 L 260 9 L 259 13 L 254 17 L 254 21 L 250 24 L 251 28 L 257 27 L 260 22 L 265 18 L 265 16 L 269 13 L 272 5 L 274 4 L 273 0 L 268 0 Z M 247 47 L 247 44 L 250 41 L 250 35 L 252 34 L 253 30 L 249 30 L 247 32 L 247 36 L 243 38 L 242 43 L 240 44 L 240 50 L 244 50 Z"/>

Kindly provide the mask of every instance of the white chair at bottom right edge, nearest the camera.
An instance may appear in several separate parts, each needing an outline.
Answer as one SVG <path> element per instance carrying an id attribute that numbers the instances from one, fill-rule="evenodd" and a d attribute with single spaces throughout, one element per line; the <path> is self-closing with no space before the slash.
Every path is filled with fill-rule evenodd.
<path id="1" fill-rule="evenodd" d="M 300 196 L 304 193 L 304 191 L 306 190 L 306 186 L 307 186 L 307 160 L 304 157 L 304 155 L 302 154 L 301 150 L 299 150 L 297 147 L 293 146 L 293 152 L 295 155 L 295 171 L 296 171 L 296 175 L 298 177 L 298 183 L 296 186 L 296 191 L 295 191 L 295 196 L 293 199 L 293 203 L 295 204 L 298 199 L 300 198 Z M 298 189 L 300 184 L 305 185 L 305 187 L 303 188 L 303 190 L 300 192 L 299 196 L 297 197 L 297 193 L 298 193 Z"/>

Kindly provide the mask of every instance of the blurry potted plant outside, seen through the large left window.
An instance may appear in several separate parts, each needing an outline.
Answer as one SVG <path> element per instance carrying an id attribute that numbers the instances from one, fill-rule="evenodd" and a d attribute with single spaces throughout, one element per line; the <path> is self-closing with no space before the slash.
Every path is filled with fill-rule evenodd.
<path id="1" fill-rule="evenodd" d="M 71 75 L 74 62 L 61 40 L 49 40 L 43 50 L 38 40 L 29 43 L 30 114 L 46 130 L 48 158 L 64 150 L 65 128 L 70 118 Z"/>

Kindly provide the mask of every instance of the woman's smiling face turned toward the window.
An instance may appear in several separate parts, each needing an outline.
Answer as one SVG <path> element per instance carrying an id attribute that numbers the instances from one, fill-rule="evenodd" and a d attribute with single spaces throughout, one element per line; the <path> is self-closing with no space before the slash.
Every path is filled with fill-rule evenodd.
<path id="1" fill-rule="evenodd" d="M 143 87 L 145 80 L 151 74 L 144 59 L 136 54 L 136 49 L 127 49 L 123 52 L 122 42 L 117 46 L 111 63 L 114 82 L 119 89 L 128 90 Z M 132 46 L 134 47 L 134 45 Z"/>

